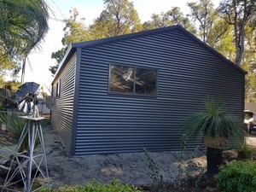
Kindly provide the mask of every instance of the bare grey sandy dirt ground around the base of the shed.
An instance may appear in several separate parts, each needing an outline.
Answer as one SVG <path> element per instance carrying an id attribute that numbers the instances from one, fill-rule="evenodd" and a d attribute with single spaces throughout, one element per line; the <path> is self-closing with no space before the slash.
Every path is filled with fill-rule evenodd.
<path id="1" fill-rule="evenodd" d="M 47 164 L 49 170 L 49 180 L 53 187 L 65 185 L 80 185 L 96 181 L 109 183 L 113 178 L 118 178 L 121 183 L 131 183 L 135 186 L 149 186 L 152 183 L 146 155 L 142 153 L 131 154 L 96 154 L 72 157 L 67 154 L 55 131 L 50 125 L 43 127 L 44 145 L 46 150 Z M 14 146 L 8 147 L 14 150 Z M 6 160 L 9 151 L 0 148 L 2 158 L 0 162 Z M 159 168 L 159 176 L 162 175 L 164 181 L 172 183 L 177 179 L 179 173 L 195 175 L 194 170 L 187 170 L 188 161 L 184 160 L 180 164 L 180 153 L 157 152 L 149 153 Z M 206 157 L 201 153 L 193 159 L 193 165 L 199 166 L 200 170 L 206 167 Z M 197 169 L 197 168 L 196 168 Z M 187 170 L 187 171 L 185 171 Z"/>

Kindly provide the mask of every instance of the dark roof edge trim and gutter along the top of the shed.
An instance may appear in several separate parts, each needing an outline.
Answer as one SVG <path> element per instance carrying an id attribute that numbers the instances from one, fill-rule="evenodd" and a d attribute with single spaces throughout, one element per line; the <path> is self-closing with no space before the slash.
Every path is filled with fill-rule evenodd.
<path id="1" fill-rule="evenodd" d="M 137 37 L 147 36 L 147 35 L 154 34 L 154 33 L 169 32 L 169 31 L 175 31 L 175 30 L 179 30 L 180 32 L 186 33 L 190 38 L 195 39 L 195 41 L 198 42 L 199 44 L 201 44 L 201 46 L 204 46 L 206 49 L 211 51 L 212 54 L 217 55 L 219 58 L 226 61 L 232 67 L 235 67 L 241 73 L 244 73 L 244 74 L 247 73 L 241 67 L 237 66 L 234 62 L 232 62 L 232 61 L 228 60 L 226 57 L 224 57 L 224 55 L 221 55 L 220 53 L 218 53 L 217 50 L 212 49 L 212 47 L 210 47 L 206 43 L 202 42 L 199 38 L 196 38 L 195 35 L 188 32 L 187 30 L 185 30 L 182 26 L 176 25 L 176 26 L 166 26 L 166 27 L 163 27 L 163 28 L 152 29 L 152 30 L 143 31 L 143 32 L 133 32 L 133 33 L 130 33 L 130 34 L 115 36 L 115 37 L 112 37 L 112 38 L 101 38 L 101 39 L 96 39 L 96 40 L 91 40 L 91 41 L 84 41 L 84 42 L 81 42 L 81 43 L 72 43 L 72 44 L 69 45 L 69 47 L 67 49 L 67 52 L 66 52 L 66 54 L 64 55 L 64 57 L 61 61 L 60 67 L 58 68 L 57 72 L 55 73 L 55 78 L 61 72 L 62 67 L 65 66 L 66 61 L 70 58 L 71 55 L 73 55 L 73 53 L 78 48 L 90 47 L 90 46 L 99 45 L 99 44 L 109 44 L 109 43 L 112 43 L 112 42 L 117 42 L 117 41 L 125 40 L 125 39 L 128 39 L 128 38 L 137 38 Z M 55 79 L 54 79 L 54 81 L 55 81 Z"/>

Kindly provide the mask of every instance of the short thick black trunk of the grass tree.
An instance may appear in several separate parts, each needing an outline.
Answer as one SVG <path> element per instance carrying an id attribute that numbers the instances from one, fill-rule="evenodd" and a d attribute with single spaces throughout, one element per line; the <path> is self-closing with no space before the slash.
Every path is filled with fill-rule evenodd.
<path id="1" fill-rule="evenodd" d="M 218 166 L 222 164 L 222 149 L 207 148 L 207 176 L 213 177 L 218 173 Z"/>

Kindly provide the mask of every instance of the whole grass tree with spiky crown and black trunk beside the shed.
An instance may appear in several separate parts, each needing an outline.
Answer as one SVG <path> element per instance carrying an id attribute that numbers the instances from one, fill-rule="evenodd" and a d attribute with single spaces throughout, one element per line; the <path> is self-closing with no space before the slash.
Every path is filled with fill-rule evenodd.
<path id="1" fill-rule="evenodd" d="M 207 147 L 207 176 L 216 175 L 228 139 L 239 131 L 234 116 L 225 112 L 218 101 L 211 97 L 205 101 L 202 111 L 192 113 L 185 120 L 183 127 L 187 139 L 202 137 Z"/>

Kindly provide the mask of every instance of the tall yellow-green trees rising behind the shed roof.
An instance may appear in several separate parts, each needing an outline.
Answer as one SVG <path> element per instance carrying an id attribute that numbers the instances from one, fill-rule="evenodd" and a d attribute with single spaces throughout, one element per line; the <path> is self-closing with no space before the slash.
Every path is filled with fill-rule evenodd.
<path id="1" fill-rule="evenodd" d="M 198 0 L 187 4 L 189 15 L 184 15 L 179 8 L 173 7 L 165 13 L 152 14 L 151 20 L 144 23 L 140 23 L 137 11 L 130 1 L 103 2 L 105 9 L 90 26 L 84 26 L 84 19 L 77 20 L 77 10 L 71 12 L 64 28 L 64 47 L 52 55 L 57 63 L 61 61 L 67 45 L 73 42 L 178 24 L 247 70 L 246 98 L 247 101 L 256 101 L 255 0 L 223 0 L 218 9 L 214 9 L 211 0 Z M 50 68 L 52 73 L 55 73 L 55 69 L 56 67 Z"/>

